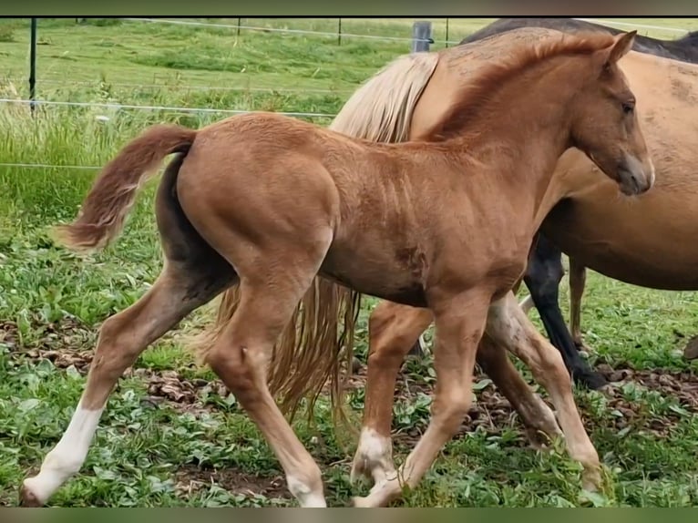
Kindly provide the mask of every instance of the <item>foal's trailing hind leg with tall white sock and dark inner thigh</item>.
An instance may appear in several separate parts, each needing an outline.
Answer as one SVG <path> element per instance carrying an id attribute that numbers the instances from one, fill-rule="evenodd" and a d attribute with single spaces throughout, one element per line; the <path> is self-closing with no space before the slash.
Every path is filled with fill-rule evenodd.
<path id="1" fill-rule="evenodd" d="M 163 175 L 157 200 L 165 267 L 138 302 L 102 324 L 76 412 L 39 473 L 26 478 L 21 488 L 25 506 L 44 505 L 82 467 L 111 390 L 139 354 L 234 281 L 230 264 L 193 230 L 171 191 L 180 161 L 174 160 Z"/>

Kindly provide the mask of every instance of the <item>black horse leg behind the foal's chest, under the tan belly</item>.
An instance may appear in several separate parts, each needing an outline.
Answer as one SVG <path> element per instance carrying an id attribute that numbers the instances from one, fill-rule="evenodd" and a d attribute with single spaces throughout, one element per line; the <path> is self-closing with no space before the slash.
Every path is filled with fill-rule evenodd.
<path id="1" fill-rule="evenodd" d="M 550 342 L 555 345 L 570 375 L 578 385 L 598 389 L 607 384 L 606 378 L 591 369 L 580 356 L 577 346 L 559 308 L 559 282 L 565 270 L 562 251 L 542 234 L 529 257 L 524 282 L 529 288 L 533 304 L 538 309 Z"/>

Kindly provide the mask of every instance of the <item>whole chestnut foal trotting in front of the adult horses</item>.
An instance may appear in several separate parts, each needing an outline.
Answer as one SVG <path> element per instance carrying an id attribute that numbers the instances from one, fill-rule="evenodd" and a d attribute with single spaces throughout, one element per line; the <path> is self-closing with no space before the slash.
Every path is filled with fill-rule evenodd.
<path id="1" fill-rule="evenodd" d="M 652 187 L 635 98 L 617 66 L 633 36 L 553 36 L 519 46 L 468 82 L 422 142 L 379 144 L 253 113 L 199 130 L 153 126 L 128 143 L 102 171 L 77 220 L 59 231 L 75 249 L 106 244 L 141 181 L 176 153 L 156 208 L 166 262 L 138 303 L 102 325 L 76 413 L 39 474 L 25 480 L 23 502 L 44 504 L 77 472 L 128 365 L 233 284 L 239 299 L 220 311 L 221 326 L 203 357 L 272 446 L 301 506 L 325 506 L 323 481 L 276 405 L 268 374 L 272 383 L 285 378 L 279 387 L 291 405 L 338 374 L 343 338 L 325 331 L 336 329 L 340 309 L 356 310 L 356 292 L 428 307 L 437 339 L 429 427 L 399 478 L 384 477 L 356 505 L 384 506 L 399 496 L 402 481 L 415 487 L 431 467 L 467 413 L 486 330 L 519 352 L 527 350 L 522 340 L 533 339 L 538 344 L 530 350 L 558 356 L 549 371 L 561 369 L 568 381 L 549 392 L 563 405 L 559 421 L 570 455 L 594 487 L 599 457 L 569 376 L 511 289 L 549 210 L 545 196 L 564 151 L 585 151 L 627 195 Z M 299 339 L 293 316 L 302 301 Z M 346 321 L 354 321 L 351 313 Z M 320 339 L 332 343 L 315 346 Z M 539 406 L 533 414 L 551 413 Z"/>

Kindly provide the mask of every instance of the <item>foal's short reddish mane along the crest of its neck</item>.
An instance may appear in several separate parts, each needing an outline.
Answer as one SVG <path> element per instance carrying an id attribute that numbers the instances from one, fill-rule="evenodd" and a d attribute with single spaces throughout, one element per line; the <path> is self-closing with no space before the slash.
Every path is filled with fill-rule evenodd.
<path id="1" fill-rule="evenodd" d="M 546 38 L 543 42 L 520 46 L 512 56 L 498 64 L 484 66 L 477 81 L 469 82 L 457 93 L 456 101 L 444 117 L 422 139 L 443 141 L 452 138 L 488 106 L 508 81 L 555 56 L 590 55 L 611 46 L 613 36 L 606 33 L 580 32 Z"/>

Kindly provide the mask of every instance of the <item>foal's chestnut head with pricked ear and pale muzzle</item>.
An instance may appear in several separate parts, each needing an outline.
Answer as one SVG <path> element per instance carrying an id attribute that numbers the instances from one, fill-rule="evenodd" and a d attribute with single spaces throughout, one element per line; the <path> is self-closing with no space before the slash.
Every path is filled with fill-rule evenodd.
<path id="1" fill-rule="evenodd" d="M 571 145 L 627 195 L 654 183 L 654 167 L 635 111 L 635 97 L 618 61 L 631 50 L 635 31 L 623 33 L 591 55 L 589 74 L 570 104 Z"/>

